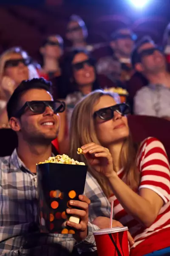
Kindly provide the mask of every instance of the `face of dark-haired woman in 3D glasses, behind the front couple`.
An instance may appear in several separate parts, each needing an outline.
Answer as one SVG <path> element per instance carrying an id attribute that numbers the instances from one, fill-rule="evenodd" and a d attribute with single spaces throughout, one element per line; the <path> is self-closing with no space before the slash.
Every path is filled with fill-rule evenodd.
<path id="1" fill-rule="evenodd" d="M 75 55 L 72 67 L 74 79 L 80 87 L 94 83 L 96 79 L 94 66 L 85 53 L 80 52 Z"/>

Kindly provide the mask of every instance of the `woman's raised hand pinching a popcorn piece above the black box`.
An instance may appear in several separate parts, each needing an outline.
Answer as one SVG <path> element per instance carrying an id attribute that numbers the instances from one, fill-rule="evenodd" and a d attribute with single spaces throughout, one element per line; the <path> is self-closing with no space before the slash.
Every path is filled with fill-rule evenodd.
<path id="1" fill-rule="evenodd" d="M 112 156 L 108 148 L 104 148 L 95 143 L 83 145 L 81 148 L 89 166 L 96 172 L 100 172 L 108 178 L 116 175 L 116 172 L 113 170 Z"/>

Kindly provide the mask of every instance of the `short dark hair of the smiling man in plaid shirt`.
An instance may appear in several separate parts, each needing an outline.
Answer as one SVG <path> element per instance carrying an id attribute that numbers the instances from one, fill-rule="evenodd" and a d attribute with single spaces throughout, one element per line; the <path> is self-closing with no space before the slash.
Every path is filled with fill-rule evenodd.
<path id="1" fill-rule="evenodd" d="M 41 78 L 34 78 L 31 80 L 22 81 L 20 85 L 14 90 L 7 103 L 8 120 L 15 116 L 15 113 L 19 110 L 20 99 L 24 93 L 31 89 L 44 89 L 48 92 L 51 91 L 51 82 Z"/>

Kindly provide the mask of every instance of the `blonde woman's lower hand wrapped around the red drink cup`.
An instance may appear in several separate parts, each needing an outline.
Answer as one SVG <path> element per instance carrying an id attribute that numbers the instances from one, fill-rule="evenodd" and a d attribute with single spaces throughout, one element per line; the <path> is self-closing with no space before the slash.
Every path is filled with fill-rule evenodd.
<path id="1" fill-rule="evenodd" d="M 98 226 L 100 229 L 109 228 L 110 218 L 100 216 L 95 218 L 92 224 Z M 119 221 L 112 220 L 112 227 L 124 227 L 124 226 Z M 130 235 L 129 231 L 127 231 L 127 237 L 130 245 L 133 245 L 135 242 L 133 237 Z"/>

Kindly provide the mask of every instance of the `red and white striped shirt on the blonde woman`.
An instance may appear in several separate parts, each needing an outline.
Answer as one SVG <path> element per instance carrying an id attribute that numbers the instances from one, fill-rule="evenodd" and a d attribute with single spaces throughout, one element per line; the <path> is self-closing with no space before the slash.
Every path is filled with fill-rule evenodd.
<path id="1" fill-rule="evenodd" d="M 141 143 L 137 155 L 137 166 L 141 172 L 138 192 L 142 188 L 151 189 L 163 199 L 164 205 L 154 223 L 146 228 L 135 220 L 132 215 L 127 214 L 114 195 L 109 198 L 110 201 L 113 200 L 114 219 L 127 226 L 135 240 L 133 247 L 136 247 L 155 233 L 162 233 L 162 229 L 170 229 L 170 165 L 164 146 L 159 140 L 149 137 Z M 118 176 L 122 179 L 123 175 L 124 170 L 121 169 L 118 172 Z M 156 250 L 162 249 L 161 247 L 159 248 L 159 240 L 155 242 L 157 244 Z M 170 240 L 168 243 L 165 247 L 170 246 Z M 152 251 L 154 251 L 154 245 Z"/>

